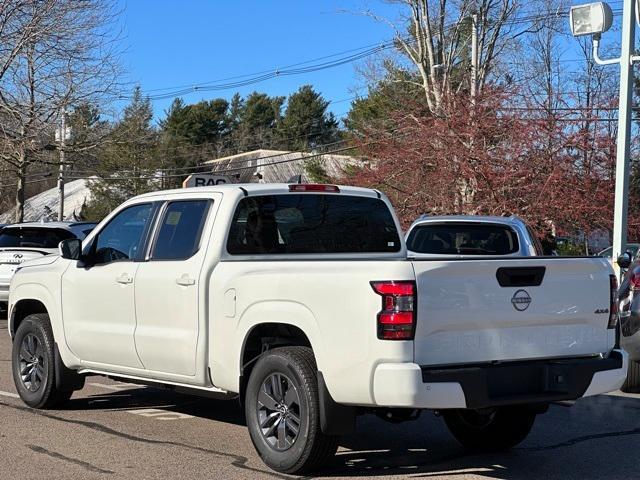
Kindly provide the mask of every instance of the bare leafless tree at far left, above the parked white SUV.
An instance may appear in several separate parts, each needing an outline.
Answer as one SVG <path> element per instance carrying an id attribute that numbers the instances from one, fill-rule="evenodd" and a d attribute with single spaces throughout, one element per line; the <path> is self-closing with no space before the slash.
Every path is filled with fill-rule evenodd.
<path id="1" fill-rule="evenodd" d="M 9 28 L 3 36 L 0 24 L 0 160 L 17 177 L 15 219 L 22 221 L 28 169 L 55 163 L 51 141 L 60 115 L 119 90 L 117 11 L 103 0 L 4 0 L 1 7 L 0 19 L 13 9 L 9 25 L 29 27 L 28 34 Z"/>

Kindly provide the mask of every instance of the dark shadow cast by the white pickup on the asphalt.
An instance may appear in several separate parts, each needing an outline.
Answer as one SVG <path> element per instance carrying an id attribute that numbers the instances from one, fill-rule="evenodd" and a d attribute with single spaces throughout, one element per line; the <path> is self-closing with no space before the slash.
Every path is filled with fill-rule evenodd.
<path id="1" fill-rule="evenodd" d="M 198 398 L 150 387 L 132 386 L 72 399 L 65 410 L 126 412 L 142 408 L 245 425 L 237 401 Z M 334 462 L 313 478 L 628 479 L 637 478 L 639 450 L 640 396 L 602 395 L 581 400 L 571 408 L 551 406 L 548 413 L 537 418 L 533 431 L 521 445 L 495 454 L 465 451 L 442 419 L 431 412 L 423 412 L 418 420 L 403 424 L 365 415 L 359 417 L 356 432 L 342 439 Z"/>

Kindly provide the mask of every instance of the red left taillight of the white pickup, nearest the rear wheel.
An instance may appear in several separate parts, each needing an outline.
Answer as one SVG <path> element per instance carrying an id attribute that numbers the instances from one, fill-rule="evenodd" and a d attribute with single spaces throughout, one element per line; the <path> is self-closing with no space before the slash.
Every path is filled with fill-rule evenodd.
<path id="1" fill-rule="evenodd" d="M 416 327 L 416 283 L 371 282 L 371 286 L 382 297 L 382 310 L 378 313 L 378 338 L 412 340 Z"/>

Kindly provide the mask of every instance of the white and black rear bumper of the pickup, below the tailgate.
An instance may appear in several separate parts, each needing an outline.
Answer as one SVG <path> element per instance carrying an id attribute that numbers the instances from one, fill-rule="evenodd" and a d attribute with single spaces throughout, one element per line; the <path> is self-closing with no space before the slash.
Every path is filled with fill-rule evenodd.
<path id="1" fill-rule="evenodd" d="M 627 354 L 536 360 L 472 367 L 421 368 L 381 364 L 373 393 L 379 406 L 486 408 L 576 400 L 619 389 L 627 375 Z"/>

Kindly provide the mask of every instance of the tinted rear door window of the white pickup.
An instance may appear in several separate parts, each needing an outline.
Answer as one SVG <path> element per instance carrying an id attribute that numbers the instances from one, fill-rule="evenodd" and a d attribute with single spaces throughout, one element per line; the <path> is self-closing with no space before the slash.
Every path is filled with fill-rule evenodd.
<path id="1" fill-rule="evenodd" d="M 162 215 L 153 260 L 184 260 L 198 251 L 208 200 L 171 202 Z"/>

